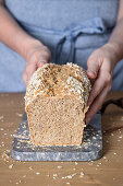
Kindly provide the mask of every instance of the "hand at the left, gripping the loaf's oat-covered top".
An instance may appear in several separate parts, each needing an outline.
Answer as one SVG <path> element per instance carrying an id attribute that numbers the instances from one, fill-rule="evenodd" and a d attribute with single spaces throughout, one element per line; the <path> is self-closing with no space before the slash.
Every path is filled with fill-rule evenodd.
<path id="1" fill-rule="evenodd" d="M 28 49 L 25 57 L 26 67 L 23 73 L 23 81 L 25 82 L 26 86 L 33 73 L 39 67 L 42 67 L 45 63 L 48 63 L 50 61 L 50 50 L 40 42 L 36 42 L 35 45 L 33 45 Z"/>

